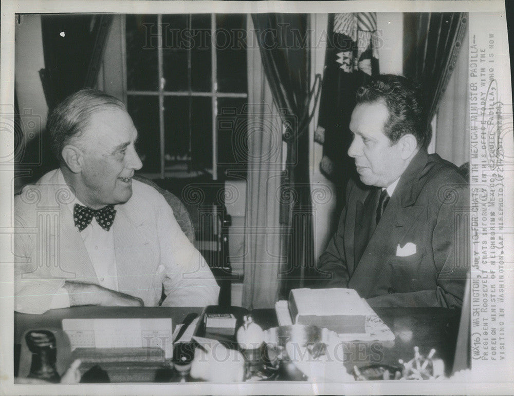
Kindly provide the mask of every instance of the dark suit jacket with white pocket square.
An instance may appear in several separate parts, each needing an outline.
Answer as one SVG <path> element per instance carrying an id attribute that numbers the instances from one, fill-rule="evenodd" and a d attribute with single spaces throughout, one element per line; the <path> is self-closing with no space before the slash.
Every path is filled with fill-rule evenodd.
<path id="1" fill-rule="evenodd" d="M 461 307 L 468 183 L 453 164 L 421 150 L 376 225 L 380 191 L 348 183 L 338 230 L 320 257 L 330 278 L 323 286 L 356 289 L 375 307 Z"/>

